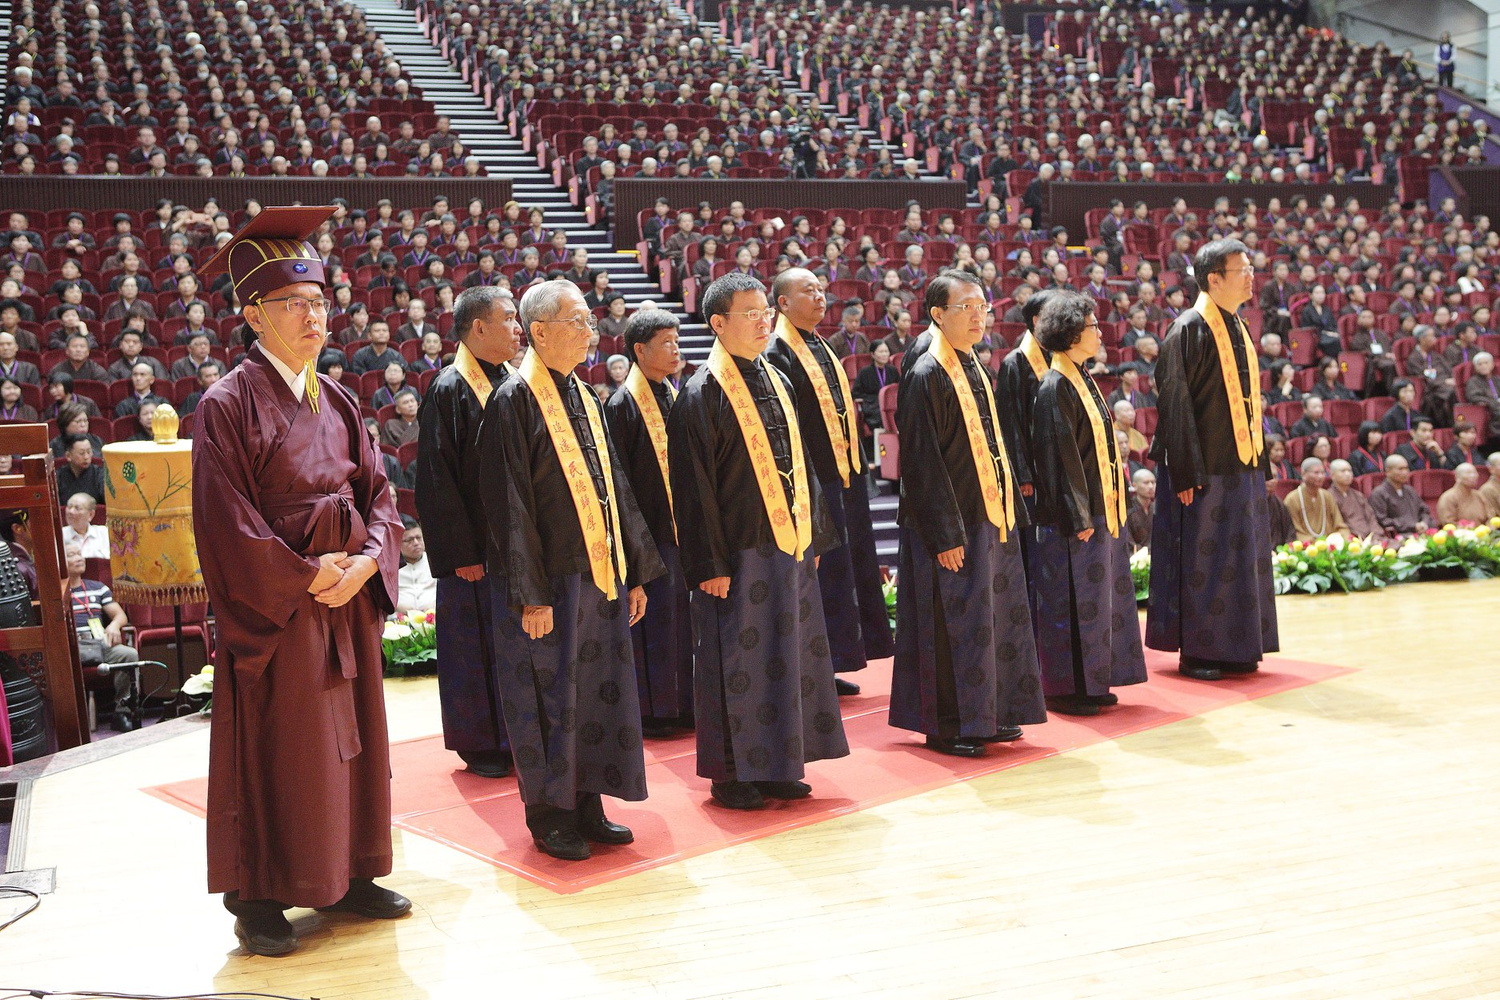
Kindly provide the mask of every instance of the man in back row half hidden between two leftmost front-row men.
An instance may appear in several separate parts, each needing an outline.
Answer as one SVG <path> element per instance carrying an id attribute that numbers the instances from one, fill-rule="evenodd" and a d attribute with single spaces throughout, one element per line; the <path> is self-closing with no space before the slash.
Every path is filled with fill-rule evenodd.
<path id="1" fill-rule="evenodd" d="M 666 423 L 676 400 L 676 316 L 638 312 L 626 325 L 632 369 L 604 403 L 609 439 L 656 540 L 666 573 L 646 583 L 646 615 L 630 630 L 636 652 L 640 727 L 650 738 L 693 729 L 693 619 L 672 517 Z"/>

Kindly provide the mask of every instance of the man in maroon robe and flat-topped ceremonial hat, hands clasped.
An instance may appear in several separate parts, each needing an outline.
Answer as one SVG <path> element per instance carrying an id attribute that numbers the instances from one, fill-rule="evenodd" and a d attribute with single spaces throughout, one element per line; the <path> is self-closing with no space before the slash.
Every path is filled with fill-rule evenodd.
<path id="1" fill-rule="evenodd" d="M 208 891 L 236 936 L 284 955 L 282 915 L 396 918 L 381 622 L 400 520 L 358 402 L 314 363 L 324 270 L 303 241 L 332 208 L 266 208 L 208 261 L 256 340 L 195 411 L 194 531 L 219 622 L 208 756 Z"/>

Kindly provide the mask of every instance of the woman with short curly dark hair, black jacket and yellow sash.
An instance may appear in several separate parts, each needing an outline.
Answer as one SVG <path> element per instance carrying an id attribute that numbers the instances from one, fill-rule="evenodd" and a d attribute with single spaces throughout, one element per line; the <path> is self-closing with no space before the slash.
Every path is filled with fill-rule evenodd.
<path id="1" fill-rule="evenodd" d="M 1054 292 L 1036 324 L 1052 364 L 1036 391 L 1030 570 L 1047 708 L 1098 715 L 1112 687 L 1146 681 L 1130 574 L 1130 489 L 1108 406 L 1086 364 L 1100 349 L 1094 300 Z M 1082 391 L 1080 391 L 1082 390 Z"/>

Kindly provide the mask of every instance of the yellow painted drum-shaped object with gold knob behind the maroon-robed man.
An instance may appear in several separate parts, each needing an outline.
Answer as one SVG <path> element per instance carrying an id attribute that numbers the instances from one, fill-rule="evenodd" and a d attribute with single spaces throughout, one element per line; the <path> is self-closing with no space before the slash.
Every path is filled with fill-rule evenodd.
<path id="1" fill-rule="evenodd" d="M 128 604 L 208 600 L 192 532 L 192 442 L 177 439 L 177 414 L 159 406 L 154 441 L 104 447 L 110 571 Z"/>

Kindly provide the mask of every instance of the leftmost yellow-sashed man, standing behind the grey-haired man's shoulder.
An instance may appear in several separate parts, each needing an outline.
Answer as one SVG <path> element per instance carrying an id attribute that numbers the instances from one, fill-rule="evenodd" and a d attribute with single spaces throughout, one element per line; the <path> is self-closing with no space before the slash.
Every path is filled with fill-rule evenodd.
<path id="1" fill-rule="evenodd" d="M 417 414 L 414 480 L 428 562 L 438 580 L 438 703 L 442 745 L 482 778 L 510 774 L 510 739 L 500 699 L 501 657 L 486 580 L 478 426 L 489 396 L 520 348 L 516 301 L 495 285 L 465 289 L 454 303 L 459 349 L 438 372 Z M 498 501 L 500 498 L 496 498 Z M 504 573 L 504 565 L 490 573 Z M 512 622 L 510 631 L 519 633 Z"/>

